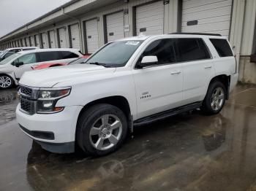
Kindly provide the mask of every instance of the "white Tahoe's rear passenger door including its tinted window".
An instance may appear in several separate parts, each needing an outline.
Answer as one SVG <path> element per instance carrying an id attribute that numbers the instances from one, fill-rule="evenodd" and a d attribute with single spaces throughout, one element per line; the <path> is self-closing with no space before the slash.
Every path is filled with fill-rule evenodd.
<path id="1" fill-rule="evenodd" d="M 202 101 L 215 74 L 208 47 L 200 38 L 178 38 L 176 46 L 184 71 L 184 104 Z"/>

